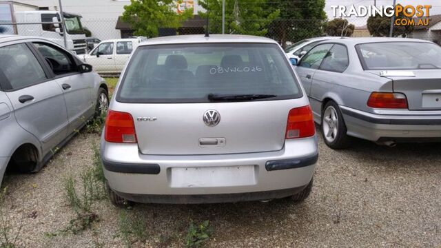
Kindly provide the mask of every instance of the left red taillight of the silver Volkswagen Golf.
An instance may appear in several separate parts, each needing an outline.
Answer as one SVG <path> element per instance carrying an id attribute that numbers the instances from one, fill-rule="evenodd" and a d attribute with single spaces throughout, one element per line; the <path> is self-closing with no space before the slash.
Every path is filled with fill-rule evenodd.
<path id="1" fill-rule="evenodd" d="M 136 143 L 136 132 L 132 115 L 109 110 L 107 118 L 105 118 L 104 139 L 112 143 Z"/>

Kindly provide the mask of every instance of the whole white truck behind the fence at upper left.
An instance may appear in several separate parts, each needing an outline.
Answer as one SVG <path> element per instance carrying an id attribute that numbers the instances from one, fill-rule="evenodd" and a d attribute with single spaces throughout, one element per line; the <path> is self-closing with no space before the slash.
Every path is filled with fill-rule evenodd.
<path id="1" fill-rule="evenodd" d="M 64 46 L 76 54 L 85 54 L 87 44 L 85 32 L 81 25 L 81 15 L 63 12 L 66 31 L 63 30 L 61 12 L 56 10 L 39 10 L 32 6 L 14 1 L 0 1 L 0 34 L 19 34 L 42 37 Z M 17 23 L 3 24 L 2 23 Z M 46 24 L 47 23 L 47 24 Z"/>

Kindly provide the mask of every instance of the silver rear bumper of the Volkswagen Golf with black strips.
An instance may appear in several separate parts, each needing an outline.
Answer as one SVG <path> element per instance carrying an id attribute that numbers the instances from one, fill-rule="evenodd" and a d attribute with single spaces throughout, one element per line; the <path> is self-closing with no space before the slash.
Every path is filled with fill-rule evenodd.
<path id="1" fill-rule="evenodd" d="M 221 203 L 290 196 L 309 183 L 317 156 L 316 137 L 286 141 L 276 152 L 201 156 L 144 155 L 136 144 L 101 143 L 110 188 L 141 203 Z M 216 180 L 220 185 L 176 186 L 173 182 L 173 168 L 241 166 L 254 168 L 254 178 L 243 184 L 231 183 L 231 178 Z"/>

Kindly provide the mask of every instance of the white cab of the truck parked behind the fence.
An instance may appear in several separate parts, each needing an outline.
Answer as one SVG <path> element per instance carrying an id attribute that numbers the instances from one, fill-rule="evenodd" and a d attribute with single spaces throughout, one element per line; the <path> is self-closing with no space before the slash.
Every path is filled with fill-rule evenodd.
<path id="1" fill-rule="evenodd" d="M 67 38 L 67 49 L 76 54 L 85 54 L 86 41 L 85 32 L 81 25 L 81 16 L 63 12 L 66 31 L 63 27 L 53 24 L 54 18 L 61 21 L 60 12 L 51 10 L 30 10 L 17 11 L 14 13 L 17 23 L 43 23 L 43 24 L 23 24 L 17 25 L 17 34 L 25 36 L 43 37 L 59 45 L 64 46 L 63 35 Z M 44 24 L 48 22 L 48 24 Z"/>

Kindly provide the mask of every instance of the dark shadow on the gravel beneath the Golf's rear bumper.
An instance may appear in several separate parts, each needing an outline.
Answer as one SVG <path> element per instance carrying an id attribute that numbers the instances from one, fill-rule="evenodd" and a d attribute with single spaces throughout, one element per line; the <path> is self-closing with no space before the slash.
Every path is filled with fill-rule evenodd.
<path id="1" fill-rule="evenodd" d="M 269 236 L 280 225 L 295 220 L 296 227 L 306 226 L 311 222 L 308 203 L 294 203 L 289 199 L 276 199 L 267 203 L 240 202 L 198 205 L 162 205 L 162 204 L 136 204 L 134 216 L 144 216 L 152 227 L 150 231 L 156 235 L 167 236 L 164 227 L 170 232 L 185 233 L 189 223 L 199 224 L 209 220 L 214 228 L 214 236 L 218 241 L 240 240 L 252 236 Z M 318 207 L 314 211 L 318 211 Z M 285 224 L 284 224 L 285 223 Z M 300 228 L 301 229 L 301 228 Z M 296 229 L 300 232 L 300 229 Z M 162 232 L 162 233 L 161 233 Z"/>

